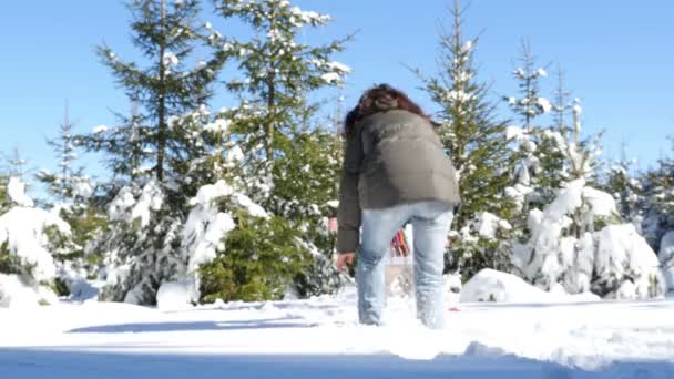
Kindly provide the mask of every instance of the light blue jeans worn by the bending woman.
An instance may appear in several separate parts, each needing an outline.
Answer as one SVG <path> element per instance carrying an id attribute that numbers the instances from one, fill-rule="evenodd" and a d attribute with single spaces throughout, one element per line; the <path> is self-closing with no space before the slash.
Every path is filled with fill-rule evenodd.
<path id="1" fill-rule="evenodd" d="M 415 244 L 417 318 L 429 328 L 445 324 L 442 269 L 445 245 L 453 214 L 440 202 L 402 204 L 385 209 L 362 209 L 358 252 L 358 316 L 361 324 L 381 324 L 385 304 L 384 263 L 396 232 L 411 222 Z"/>

